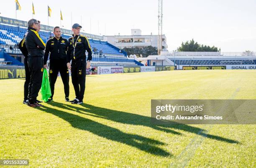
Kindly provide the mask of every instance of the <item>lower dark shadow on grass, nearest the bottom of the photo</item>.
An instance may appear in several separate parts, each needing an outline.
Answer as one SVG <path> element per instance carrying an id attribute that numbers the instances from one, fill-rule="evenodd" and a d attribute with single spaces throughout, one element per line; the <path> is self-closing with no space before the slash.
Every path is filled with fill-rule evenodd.
<path id="1" fill-rule="evenodd" d="M 60 103 L 52 102 L 51 105 L 70 110 L 70 108 L 66 107 L 67 105 L 63 105 Z M 77 106 L 70 105 L 70 107 L 72 108 L 72 110 L 73 108 L 78 110 Z M 172 156 L 171 153 L 157 147 L 159 145 L 165 145 L 165 143 L 163 142 L 151 138 L 146 138 L 137 134 L 124 133 L 116 128 L 106 126 L 96 121 L 92 121 L 90 119 L 86 119 L 84 117 L 51 107 L 44 106 L 38 109 L 58 116 L 61 119 L 64 119 L 65 121 L 69 122 L 74 128 L 89 131 L 97 136 L 101 136 L 112 141 L 124 143 L 126 145 L 138 148 L 141 151 L 145 151 L 147 153 L 151 153 L 157 156 Z M 83 111 L 87 112 L 87 109 L 83 109 Z"/>

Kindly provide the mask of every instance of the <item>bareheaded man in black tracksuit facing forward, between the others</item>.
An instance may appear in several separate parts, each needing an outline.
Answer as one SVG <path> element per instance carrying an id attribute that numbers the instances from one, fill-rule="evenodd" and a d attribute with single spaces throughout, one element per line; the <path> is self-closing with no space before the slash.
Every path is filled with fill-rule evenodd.
<path id="1" fill-rule="evenodd" d="M 51 98 L 48 102 L 53 101 L 54 84 L 60 73 L 64 84 L 65 101 L 69 101 L 69 69 L 67 69 L 67 39 L 61 37 L 61 29 L 56 26 L 53 30 L 54 37 L 46 42 L 44 52 L 44 68 L 47 67 L 47 59 L 50 54 L 49 81 L 51 86 Z"/>

